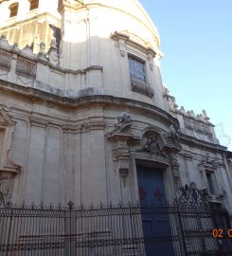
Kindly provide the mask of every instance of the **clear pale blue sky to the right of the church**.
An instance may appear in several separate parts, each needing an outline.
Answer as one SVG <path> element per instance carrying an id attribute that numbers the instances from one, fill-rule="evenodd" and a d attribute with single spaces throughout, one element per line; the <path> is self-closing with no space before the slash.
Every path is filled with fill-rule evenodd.
<path id="1" fill-rule="evenodd" d="M 232 151 L 232 1 L 140 3 L 159 31 L 161 71 L 170 94 L 195 114 L 205 109 L 223 145 L 230 137 Z"/>

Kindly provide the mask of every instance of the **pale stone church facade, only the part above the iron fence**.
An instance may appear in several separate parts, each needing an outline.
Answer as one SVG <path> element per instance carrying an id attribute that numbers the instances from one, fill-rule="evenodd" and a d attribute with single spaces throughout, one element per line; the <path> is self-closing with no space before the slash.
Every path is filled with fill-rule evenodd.
<path id="1" fill-rule="evenodd" d="M 172 204 L 195 183 L 232 212 L 231 153 L 179 108 L 137 0 L 0 1 L 0 191 L 58 205 Z M 167 56 L 169 58 L 169 56 Z"/>

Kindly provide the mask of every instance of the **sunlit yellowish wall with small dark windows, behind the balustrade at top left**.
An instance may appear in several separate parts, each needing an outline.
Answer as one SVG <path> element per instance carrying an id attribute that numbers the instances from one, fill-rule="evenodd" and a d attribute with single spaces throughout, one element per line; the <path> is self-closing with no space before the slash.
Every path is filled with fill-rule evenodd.
<path id="1" fill-rule="evenodd" d="M 19 9 L 15 17 L 9 18 L 9 7 L 18 2 Z M 10 45 L 17 44 L 19 48 L 32 46 L 33 52 L 38 53 L 40 43 L 45 42 L 48 51 L 52 38 L 61 41 L 61 16 L 57 11 L 58 1 L 40 0 L 38 9 L 29 10 L 28 0 L 3 1 L 0 4 L 0 35 L 6 36 Z"/>

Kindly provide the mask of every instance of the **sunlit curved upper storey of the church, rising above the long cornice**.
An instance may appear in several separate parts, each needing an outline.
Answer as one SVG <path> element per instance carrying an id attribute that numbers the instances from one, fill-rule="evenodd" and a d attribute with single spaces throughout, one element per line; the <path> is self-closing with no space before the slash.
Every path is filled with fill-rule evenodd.
<path id="1" fill-rule="evenodd" d="M 59 11 L 60 64 L 65 69 L 89 71 L 85 82 L 77 82 L 70 90 L 145 101 L 167 109 L 156 62 L 161 56 L 159 35 L 138 1 L 62 0 Z"/>

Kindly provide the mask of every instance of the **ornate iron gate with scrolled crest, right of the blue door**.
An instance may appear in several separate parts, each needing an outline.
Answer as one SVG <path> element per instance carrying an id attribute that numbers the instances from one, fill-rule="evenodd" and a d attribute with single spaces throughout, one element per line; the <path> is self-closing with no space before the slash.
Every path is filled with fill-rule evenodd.
<path id="1" fill-rule="evenodd" d="M 176 205 L 186 255 L 223 255 L 218 238 L 212 234 L 217 225 L 208 193 L 200 192 L 194 183 L 180 191 Z"/>

